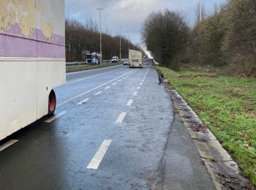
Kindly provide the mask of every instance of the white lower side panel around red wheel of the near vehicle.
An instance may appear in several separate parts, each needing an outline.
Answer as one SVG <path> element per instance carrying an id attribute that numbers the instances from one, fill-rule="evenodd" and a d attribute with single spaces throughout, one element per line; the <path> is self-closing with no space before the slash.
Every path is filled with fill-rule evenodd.
<path id="1" fill-rule="evenodd" d="M 37 118 L 48 114 L 48 96 L 50 91 L 66 81 L 66 61 L 39 61 L 38 62 L 38 100 Z M 58 72 L 56 72 L 58 71 Z M 58 99 L 57 99 L 58 101 Z"/>

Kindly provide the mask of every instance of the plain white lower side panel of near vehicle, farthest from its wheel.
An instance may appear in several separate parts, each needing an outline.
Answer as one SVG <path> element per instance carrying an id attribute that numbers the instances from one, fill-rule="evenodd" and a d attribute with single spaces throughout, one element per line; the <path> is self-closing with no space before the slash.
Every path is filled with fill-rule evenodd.
<path id="1" fill-rule="evenodd" d="M 1 140 L 37 120 L 37 62 L 0 58 L 0 68 Z"/>

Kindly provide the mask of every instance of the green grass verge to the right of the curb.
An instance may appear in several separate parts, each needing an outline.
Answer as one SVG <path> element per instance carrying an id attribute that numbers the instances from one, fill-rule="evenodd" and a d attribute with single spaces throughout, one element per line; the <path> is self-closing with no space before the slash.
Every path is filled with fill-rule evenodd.
<path id="1" fill-rule="evenodd" d="M 157 69 L 256 185 L 256 78 Z"/>

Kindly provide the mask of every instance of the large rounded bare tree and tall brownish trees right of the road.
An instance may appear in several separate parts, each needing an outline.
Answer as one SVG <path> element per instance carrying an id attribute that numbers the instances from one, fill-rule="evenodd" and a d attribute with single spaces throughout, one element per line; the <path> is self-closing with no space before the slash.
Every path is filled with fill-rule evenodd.
<path id="1" fill-rule="evenodd" d="M 206 15 L 198 3 L 195 16 L 195 26 L 190 28 L 178 12 L 165 10 L 148 16 L 142 34 L 154 58 L 173 69 L 184 62 L 230 75 L 256 76 L 255 0 L 216 4 L 212 15 Z"/>

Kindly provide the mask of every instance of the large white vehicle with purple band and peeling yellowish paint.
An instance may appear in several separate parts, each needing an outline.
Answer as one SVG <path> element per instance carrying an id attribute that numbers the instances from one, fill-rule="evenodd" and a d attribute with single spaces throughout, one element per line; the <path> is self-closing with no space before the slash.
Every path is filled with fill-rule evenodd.
<path id="1" fill-rule="evenodd" d="M 0 140 L 53 114 L 66 81 L 64 0 L 1 0 Z"/>

